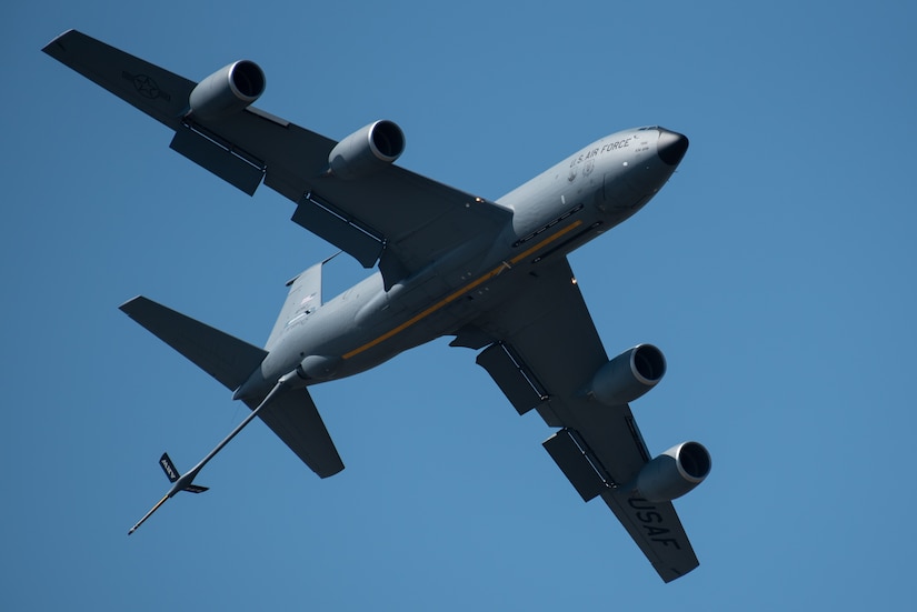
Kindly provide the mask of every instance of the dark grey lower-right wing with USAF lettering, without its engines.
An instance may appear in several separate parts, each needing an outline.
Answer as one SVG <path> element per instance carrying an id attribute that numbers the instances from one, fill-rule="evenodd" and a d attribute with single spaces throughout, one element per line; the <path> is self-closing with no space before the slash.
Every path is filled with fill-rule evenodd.
<path id="1" fill-rule="evenodd" d="M 496 339 L 478 357 L 510 403 L 537 409 L 551 427 L 545 442 L 588 501 L 600 495 L 666 582 L 698 565 L 670 502 L 650 503 L 628 486 L 650 460 L 630 408 L 582 394 L 608 361 L 566 259 L 526 274 L 512 298 L 475 322 Z"/>

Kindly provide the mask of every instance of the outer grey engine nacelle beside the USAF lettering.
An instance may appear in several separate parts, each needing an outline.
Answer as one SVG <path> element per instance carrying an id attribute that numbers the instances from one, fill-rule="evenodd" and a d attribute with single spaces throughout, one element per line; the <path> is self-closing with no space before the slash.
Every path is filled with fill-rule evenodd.
<path id="1" fill-rule="evenodd" d="M 637 490 L 651 502 L 680 498 L 710 473 L 710 453 L 699 442 L 681 442 L 646 465 L 637 475 Z"/>

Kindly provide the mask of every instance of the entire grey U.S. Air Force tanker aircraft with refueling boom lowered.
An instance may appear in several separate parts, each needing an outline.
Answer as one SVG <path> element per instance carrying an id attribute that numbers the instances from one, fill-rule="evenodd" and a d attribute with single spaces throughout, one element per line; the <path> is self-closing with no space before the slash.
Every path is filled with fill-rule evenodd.
<path id="1" fill-rule="evenodd" d="M 491 201 L 395 165 L 405 134 L 392 121 L 336 142 L 252 107 L 266 82 L 252 61 L 195 82 L 74 30 L 43 51 L 173 130 L 177 152 L 250 195 L 263 182 L 293 201 L 293 222 L 378 263 L 329 301 L 327 260 L 290 280 L 263 349 L 143 297 L 120 307 L 251 409 L 185 474 L 162 455 L 172 486 L 129 533 L 179 491 L 205 491 L 198 473 L 256 415 L 319 476 L 340 472 L 308 387 L 450 335 L 480 350 L 519 414 L 557 430 L 544 447 L 560 471 L 585 501 L 601 496 L 664 581 L 698 565 L 671 500 L 707 476 L 710 455 L 682 442 L 651 458 L 628 404 L 666 360 L 651 344 L 608 359 L 566 257 L 640 210 L 686 137 L 620 131 Z"/>

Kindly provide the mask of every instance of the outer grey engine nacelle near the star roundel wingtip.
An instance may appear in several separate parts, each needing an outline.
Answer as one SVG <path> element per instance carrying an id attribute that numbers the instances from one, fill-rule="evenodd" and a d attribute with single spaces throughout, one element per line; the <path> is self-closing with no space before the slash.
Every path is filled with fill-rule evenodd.
<path id="1" fill-rule="evenodd" d="M 245 110 L 265 92 L 265 72 L 249 60 L 223 67 L 191 90 L 191 112 L 201 119 L 221 119 Z"/>

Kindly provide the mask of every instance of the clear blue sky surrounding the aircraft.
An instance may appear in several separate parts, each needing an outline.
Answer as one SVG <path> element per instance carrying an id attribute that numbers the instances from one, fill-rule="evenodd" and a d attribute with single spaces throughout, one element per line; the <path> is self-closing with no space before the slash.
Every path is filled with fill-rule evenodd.
<path id="1" fill-rule="evenodd" d="M 7 2 L 3 610 L 903 610 L 914 605 L 917 4 Z M 498 198 L 589 142 L 691 147 L 639 214 L 570 259 L 609 353 L 669 372 L 652 452 L 705 443 L 676 502 L 700 568 L 665 585 L 584 504 L 475 353 L 441 339 L 313 389 L 347 470 L 261 423 L 130 539 L 246 413 L 117 307 L 138 293 L 261 344 L 285 281 L 335 252 L 170 132 L 40 52 L 80 29 L 399 164 Z M 366 272 L 338 258 L 326 291 Z M 564 355 L 558 355 L 564 359 Z"/>

